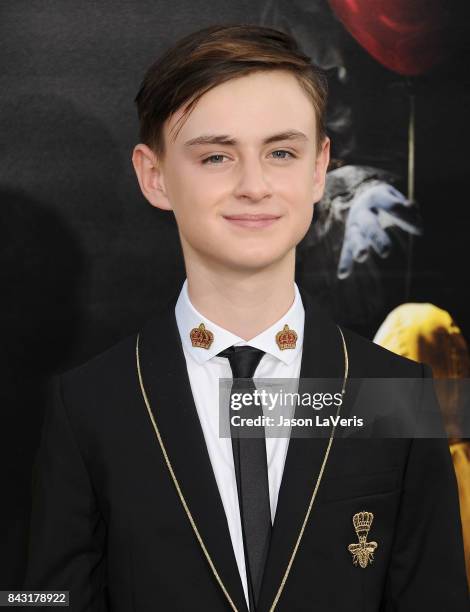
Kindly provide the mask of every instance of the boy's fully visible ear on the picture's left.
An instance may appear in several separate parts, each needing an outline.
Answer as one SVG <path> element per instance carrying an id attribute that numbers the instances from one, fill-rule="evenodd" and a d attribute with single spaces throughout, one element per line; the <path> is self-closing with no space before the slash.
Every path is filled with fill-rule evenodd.
<path id="1" fill-rule="evenodd" d="M 144 197 L 156 208 L 172 210 L 161 163 L 152 149 L 142 143 L 136 145 L 132 153 L 132 163 Z"/>

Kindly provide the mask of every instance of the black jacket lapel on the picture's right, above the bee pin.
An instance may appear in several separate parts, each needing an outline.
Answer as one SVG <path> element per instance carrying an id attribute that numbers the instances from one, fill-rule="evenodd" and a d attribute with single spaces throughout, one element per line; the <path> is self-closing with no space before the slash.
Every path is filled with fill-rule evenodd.
<path id="1" fill-rule="evenodd" d="M 299 290 L 305 309 L 300 379 L 335 378 L 342 381 L 344 352 L 340 332 L 310 294 L 301 287 Z M 341 385 L 338 387 L 340 390 Z M 299 393 L 302 393 L 302 388 L 300 380 Z M 323 438 L 291 437 L 289 441 L 257 608 L 260 612 L 270 609 L 287 569 L 316 484 L 329 434 L 328 428 Z M 327 471 L 326 468 L 325 475 Z"/>

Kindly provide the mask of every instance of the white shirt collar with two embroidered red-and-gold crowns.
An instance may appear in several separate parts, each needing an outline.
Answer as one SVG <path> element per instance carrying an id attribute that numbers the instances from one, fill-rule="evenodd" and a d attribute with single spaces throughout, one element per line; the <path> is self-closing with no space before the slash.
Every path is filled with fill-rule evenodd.
<path id="1" fill-rule="evenodd" d="M 203 364 L 212 357 L 216 356 L 220 351 L 225 350 L 232 345 L 254 346 L 257 349 L 264 351 L 274 357 L 277 357 L 285 364 L 290 364 L 297 357 L 302 348 L 304 336 L 304 321 L 305 311 L 302 304 L 297 283 L 294 282 L 295 298 L 289 310 L 278 321 L 270 327 L 259 333 L 251 340 L 244 340 L 236 334 L 220 327 L 207 317 L 204 317 L 191 303 L 188 294 L 188 279 L 186 279 L 181 288 L 178 300 L 175 306 L 175 316 L 178 325 L 181 342 L 188 354 L 191 355 L 199 364 Z M 214 340 L 210 348 L 194 347 L 191 343 L 190 333 L 193 328 L 199 327 L 204 323 L 206 329 L 214 334 Z M 276 334 L 284 329 L 284 325 L 288 325 L 297 333 L 297 342 L 295 348 L 281 350 L 276 343 Z"/>

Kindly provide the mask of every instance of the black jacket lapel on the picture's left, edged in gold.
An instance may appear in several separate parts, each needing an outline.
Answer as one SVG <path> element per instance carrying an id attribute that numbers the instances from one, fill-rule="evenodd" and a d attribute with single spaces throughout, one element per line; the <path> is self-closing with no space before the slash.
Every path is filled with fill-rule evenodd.
<path id="1" fill-rule="evenodd" d="M 173 470 L 206 549 L 235 606 L 240 612 L 247 612 L 225 511 L 189 382 L 175 318 L 177 297 L 175 294 L 141 332 L 139 353 L 143 383 Z M 157 438 L 155 444 L 158 445 Z M 194 542 L 197 544 L 196 538 Z M 208 571 L 211 571 L 209 566 Z"/>

